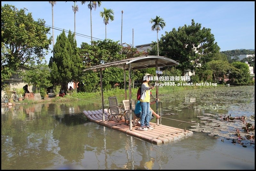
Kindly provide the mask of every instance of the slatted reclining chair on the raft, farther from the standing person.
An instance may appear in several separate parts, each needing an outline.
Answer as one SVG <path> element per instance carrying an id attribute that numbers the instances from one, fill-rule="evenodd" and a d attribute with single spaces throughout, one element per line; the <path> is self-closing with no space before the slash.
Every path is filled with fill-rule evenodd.
<path id="1" fill-rule="evenodd" d="M 108 97 L 109 108 L 108 108 L 108 121 L 112 121 L 114 118 L 116 122 L 119 122 L 123 117 L 123 112 L 121 111 L 121 106 L 118 106 L 117 98 Z"/>

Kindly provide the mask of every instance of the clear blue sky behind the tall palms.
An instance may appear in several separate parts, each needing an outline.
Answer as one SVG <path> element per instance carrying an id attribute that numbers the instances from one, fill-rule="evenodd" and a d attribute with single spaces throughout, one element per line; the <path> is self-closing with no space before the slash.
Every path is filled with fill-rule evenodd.
<path id="1" fill-rule="evenodd" d="M 165 32 L 173 28 L 191 25 L 191 20 L 200 23 L 202 28 L 210 28 L 215 41 L 221 51 L 233 49 L 255 48 L 255 2 L 130 2 L 130 1 L 101 1 L 102 4 L 96 10 L 92 10 L 92 37 L 93 40 L 105 39 L 105 24 L 100 17 L 103 7 L 112 9 L 115 14 L 114 21 L 107 25 L 107 38 L 121 42 L 121 23 L 123 13 L 122 43 L 131 44 L 134 47 L 156 41 L 156 31 L 151 30 L 151 18 L 160 16 L 166 26 L 160 30 L 160 39 Z M 52 26 L 52 6 L 48 1 L 2 1 L 2 5 L 10 4 L 16 8 L 27 8 L 35 20 L 44 19 L 46 26 Z M 54 5 L 54 38 L 63 29 L 74 32 L 73 1 L 57 1 Z M 77 2 L 79 10 L 76 12 L 77 46 L 82 42 L 90 44 L 91 25 L 90 10 L 87 4 Z M 52 30 L 51 30 L 52 33 Z M 67 35 L 67 34 L 66 34 Z M 52 48 L 52 45 L 50 45 Z M 52 54 L 46 56 L 47 63 Z"/>

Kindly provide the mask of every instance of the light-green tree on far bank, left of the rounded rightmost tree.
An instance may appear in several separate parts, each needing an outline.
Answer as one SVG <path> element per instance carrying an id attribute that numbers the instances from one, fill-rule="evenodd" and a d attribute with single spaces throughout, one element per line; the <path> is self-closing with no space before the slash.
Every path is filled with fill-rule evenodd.
<path id="1" fill-rule="evenodd" d="M 228 74 L 231 68 L 228 61 L 222 60 L 210 61 L 207 63 L 207 65 L 209 66 L 209 69 L 212 70 L 213 79 L 215 80 L 215 82 L 219 82 L 219 80 L 224 80 L 225 75 Z"/>

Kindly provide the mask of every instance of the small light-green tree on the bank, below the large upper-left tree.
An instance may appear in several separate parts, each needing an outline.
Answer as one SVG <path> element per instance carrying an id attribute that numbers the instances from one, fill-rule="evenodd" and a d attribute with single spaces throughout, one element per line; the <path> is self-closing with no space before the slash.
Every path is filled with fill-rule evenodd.
<path id="1" fill-rule="evenodd" d="M 52 86 L 50 68 L 46 64 L 35 65 L 31 70 L 21 72 L 21 76 L 24 82 L 39 88 L 39 91 Z"/>

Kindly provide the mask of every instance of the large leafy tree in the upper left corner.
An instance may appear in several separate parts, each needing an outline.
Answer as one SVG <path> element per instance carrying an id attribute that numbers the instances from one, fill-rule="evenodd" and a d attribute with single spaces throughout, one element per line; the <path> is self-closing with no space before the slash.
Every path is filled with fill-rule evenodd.
<path id="1" fill-rule="evenodd" d="M 1 8 L 1 80 L 9 78 L 20 65 L 42 63 L 48 54 L 52 38 L 47 38 L 50 28 L 45 21 L 34 21 L 27 9 L 18 10 L 13 5 Z M 5 65 L 4 65 L 5 64 Z M 4 65 L 4 66 L 3 66 Z"/>

